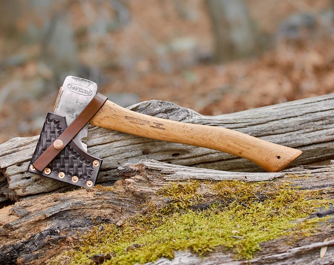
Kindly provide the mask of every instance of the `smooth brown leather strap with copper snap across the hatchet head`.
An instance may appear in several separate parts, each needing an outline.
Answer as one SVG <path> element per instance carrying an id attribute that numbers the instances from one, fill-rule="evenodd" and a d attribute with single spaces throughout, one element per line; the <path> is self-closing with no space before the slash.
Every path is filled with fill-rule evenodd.
<path id="1" fill-rule="evenodd" d="M 89 122 L 96 112 L 105 104 L 107 97 L 97 93 L 91 102 L 83 109 L 78 117 L 62 132 L 56 140 L 61 140 L 62 148 L 56 149 L 53 144 L 49 146 L 44 153 L 32 164 L 38 171 L 43 171 L 44 168 L 60 153 L 62 149 L 74 138 L 78 132 Z M 55 141 L 56 141 L 55 140 Z M 59 141 L 58 141 L 59 142 Z"/>

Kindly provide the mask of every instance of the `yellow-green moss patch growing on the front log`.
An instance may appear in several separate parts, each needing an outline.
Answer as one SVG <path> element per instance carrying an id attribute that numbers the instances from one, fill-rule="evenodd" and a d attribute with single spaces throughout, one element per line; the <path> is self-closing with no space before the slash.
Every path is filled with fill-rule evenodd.
<path id="1" fill-rule="evenodd" d="M 202 200 L 197 189 L 203 185 L 218 200 L 205 210 L 193 211 L 190 207 Z M 120 227 L 104 224 L 103 230 L 94 228 L 71 253 L 73 264 L 90 264 L 89 257 L 101 253 L 111 253 L 104 264 L 143 264 L 161 257 L 172 259 L 177 250 L 201 256 L 217 247 L 234 253 L 236 258 L 251 259 L 261 242 L 314 232 L 319 218 L 297 220 L 315 207 L 329 204 L 317 192 L 276 182 L 189 182 L 170 184 L 158 194 L 167 201 L 161 209 L 151 207 L 151 212 L 131 218 Z"/>

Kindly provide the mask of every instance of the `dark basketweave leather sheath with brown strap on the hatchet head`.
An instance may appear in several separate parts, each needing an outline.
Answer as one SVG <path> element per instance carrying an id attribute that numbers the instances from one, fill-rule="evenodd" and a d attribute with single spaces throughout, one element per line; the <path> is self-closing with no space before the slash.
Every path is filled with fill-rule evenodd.
<path id="1" fill-rule="evenodd" d="M 97 93 L 69 126 L 64 116 L 49 112 L 28 171 L 73 185 L 83 187 L 95 185 L 102 159 L 90 156 L 72 139 L 106 100 L 107 97 Z M 61 140 L 62 148 L 54 147 L 53 143 L 56 140 Z"/>

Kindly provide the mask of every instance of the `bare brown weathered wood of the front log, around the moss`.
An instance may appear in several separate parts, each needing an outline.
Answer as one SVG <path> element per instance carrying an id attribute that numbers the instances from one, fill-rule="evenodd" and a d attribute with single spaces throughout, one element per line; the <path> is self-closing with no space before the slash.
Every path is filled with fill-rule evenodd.
<path id="1" fill-rule="evenodd" d="M 147 202 L 157 207 L 166 204 L 165 198 L 157 195 L 157 191 L 170 181 L 180 183 L 181 180 L 183 183 L 187 180 L 184 169 L 183 166 L 142 160 L 137 164 L 120 166 L 118 171 L 122 179 L 118 180 L 112 189 L 97 186 L 45 194 L 0 209 L 0 263 L 44 264 L 52 257 L 62 256 L 63 251 L 75 248 L 79 243 L 78 232 L 84 234 L 99 222 L 122 223 L 131 216 L 143 213 Z M 193 170 L 195 171 L 189 175 L 190 179 L 198 179 L 198 176 L 203 180 L 226 179 L 226 172 L 209 170 L 210 174 L 205 174 L 206 169 Z M 327 198 L 334 198 L 333 164 L 280 173 L 241 174 L 248 180 L 251 176 L 256 176 L 257 180 L 278 178 L 278 182 L 290 182 L 308 190 L 321 190 Z M 207 182 L 200 182 L 198 188 L 203 198 L 201 205 L 212 203 L 217 196 L 206 185 Z M 331 264 L 334 259 L 333 232 L 334 227 L 327 224 L 319 228 L 318 234 L 291 245 L 286 243 L 286 238 L 265 242 L 261 245 L 263 250 L 257 254 L 258 258 L 254 259 L 252 264 L 286 264 L 284 260 L 289 259 L 297 262 L 309 261 L 310 253 L 318 253 L 325 245 L 329 246 L 328 255 L 321 259 L 320 264 Z M 322 238 L 329 238 L 329 241 L 323 243 Z M 221 252 L 210 254 L 204 259 L 198 258 L 196 254 L 178 252 L 173 261 L 161 259 L 156 264 L 178 264 L 179 261 L 183 264 L 198 264 L 199 260 L 201 264 L 246 264 L 244 260 L 235 261 L 233 257 Z"/>

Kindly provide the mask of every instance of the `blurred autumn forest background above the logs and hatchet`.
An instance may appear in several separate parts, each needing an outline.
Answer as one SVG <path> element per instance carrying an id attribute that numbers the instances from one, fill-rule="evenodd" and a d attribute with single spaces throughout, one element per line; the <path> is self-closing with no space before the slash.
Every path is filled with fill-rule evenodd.
<path id="1" fill-rule="evenodd" d="M 204 115 L 334 92 L 331 0 L 0 4 L 0 143 L 39 134 L 67 75 Z"/>

